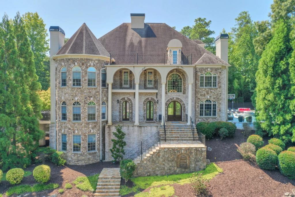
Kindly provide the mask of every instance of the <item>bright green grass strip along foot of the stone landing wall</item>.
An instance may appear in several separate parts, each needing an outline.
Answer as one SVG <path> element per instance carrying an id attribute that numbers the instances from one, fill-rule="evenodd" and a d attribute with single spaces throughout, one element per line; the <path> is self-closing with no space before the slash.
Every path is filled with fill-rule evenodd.
<path id="1" fill-rule="evenodd" d="M 222 172 L 222 169 L 219 168 L 215 163 L 207 165 L 204 170 L 198 171 L 198 173 L 203 173 L 203 177 L 207 180 L 212 179 L 216 175 Z M 156 185 L 165 185 L 165 184 L 185 184 L 190 183 L 189 178 L 193 173 L 179 174 L 179 175 L 168 175 L 168 176 L 147 176 L 147 177 L 135 177 L 131 178 L 131 181 L 134 183 L 132 188 L 129 188 L 125 185 L 122 185 L 120 188 L 120 195 L 126 195 L 131 192 L 137 192 L 139 189 L 146 189 L 151 186 Z"/>

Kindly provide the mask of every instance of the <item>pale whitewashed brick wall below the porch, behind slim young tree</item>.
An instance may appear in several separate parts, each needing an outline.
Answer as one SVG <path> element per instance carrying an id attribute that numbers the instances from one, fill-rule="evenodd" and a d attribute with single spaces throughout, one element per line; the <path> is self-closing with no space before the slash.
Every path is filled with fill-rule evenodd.
<path id="1" fill-rule="evenodd" d="M 122 130 L 125 135 L 124 141 L 127 145 L 124 148 L 125 153 L 128 153 L 136 146 L 140 145 L 141 141 L 145 141 L 150 136 L 158 132 L 160 125 L 122 125 Z M 114 139 L 113 132 L 116 131 L 116 125 L 106 125 L 105 136 L 105 161 L 112 161 L 112 153 L 110 148 L 113 146 L 112 139 Z"/>

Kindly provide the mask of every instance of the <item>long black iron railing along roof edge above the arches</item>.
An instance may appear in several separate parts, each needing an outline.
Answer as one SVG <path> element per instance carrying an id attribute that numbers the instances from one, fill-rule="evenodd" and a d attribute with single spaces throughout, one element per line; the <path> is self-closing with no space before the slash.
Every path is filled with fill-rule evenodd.
<path id="1" fill-rule="evenodd" d="M 110 54 L 111 64 L 168 64 L 168 65 L 191 65 L 190 55 L 164 54 Z"/>

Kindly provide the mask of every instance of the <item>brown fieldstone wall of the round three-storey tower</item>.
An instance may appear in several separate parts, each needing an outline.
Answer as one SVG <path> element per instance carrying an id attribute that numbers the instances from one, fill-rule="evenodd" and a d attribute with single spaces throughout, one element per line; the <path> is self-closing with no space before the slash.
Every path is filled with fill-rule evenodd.
<path id="1" fill-rule="evenodd" d="M 102 100 L 100 101 L 100 83 L 101 68 L 108 62 L 99 59 L 86 58 L 65 58 L 57 59 L 56 64 L 56 147 L 61 150 L 61 134 L 67 135 L 67 151 L 65 153 L 68 164 L 85 165 L 100 161 L 100 120 L 101 120 L 101 101 L 107 101 L 107 90 L 103 88 Z M 72 87 L 72 68 L 79 66 L 81 68 L 81 87 Z M 89 67 L 96 69 L 95 88 L 87 87 L 87 69 Z M 60 87 L 60 70 L 67 68 L 67 86 Z M 60 121 L 60 104 L 65 101 L 67 104 L 67 121 Z M 81 122 L 72 122 L 72 103 L 79 101 L 81 103 Z M 96 121 L 87 121 L 87 104 L 89 101 L 96 103 Z M 50 127 L 51 129 L 51 127 Z M 72 136 L 81 134 L 81 153 L 72 152 Z M 87 151 L 87 134 L 96 134 L 96 151 Z M 50 135 L 50 141 L 53 134 Z"/>

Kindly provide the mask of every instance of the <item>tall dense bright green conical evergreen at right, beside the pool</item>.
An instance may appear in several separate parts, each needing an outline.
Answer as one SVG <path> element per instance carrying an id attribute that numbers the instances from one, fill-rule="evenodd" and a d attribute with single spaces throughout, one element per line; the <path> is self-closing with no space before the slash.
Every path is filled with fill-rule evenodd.
<path id="1" fill-rule="evenodd" d="M 295 118 L 291 102 L 294 96 L 290 95 L 293 88 L 289 72 L 292 48 L 289 33 L 288 20 L 278 20 L 273 26 L 272 39 L 259 60 L 256 73 L 256 119 L 269 135 L 285 142 L 294 142 Z"/>

